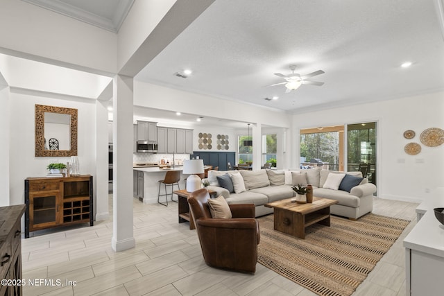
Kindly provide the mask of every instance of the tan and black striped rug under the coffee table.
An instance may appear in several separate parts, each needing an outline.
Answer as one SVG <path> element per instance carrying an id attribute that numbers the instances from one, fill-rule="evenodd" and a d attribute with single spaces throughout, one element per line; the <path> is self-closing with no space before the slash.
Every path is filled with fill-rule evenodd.
<path id="1" fill-rule="evenodd" d="M 357 221 L 332 216 L 311 225 L 305 239 L 273 229 L 273 215 L 258 218 L 262 265 L 318 295 L 352 295 L 395 243 L 409 220 L 367 214 Z"/>

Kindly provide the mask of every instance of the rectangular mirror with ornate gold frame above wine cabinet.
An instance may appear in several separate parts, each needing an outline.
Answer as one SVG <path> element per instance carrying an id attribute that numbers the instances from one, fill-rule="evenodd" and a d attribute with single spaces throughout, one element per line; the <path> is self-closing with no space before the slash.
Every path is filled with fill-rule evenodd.
<path id="1" fill-rule="evenodd" d="M 35 105 L 35 156 L 77 155 L 77 109 Z"/>

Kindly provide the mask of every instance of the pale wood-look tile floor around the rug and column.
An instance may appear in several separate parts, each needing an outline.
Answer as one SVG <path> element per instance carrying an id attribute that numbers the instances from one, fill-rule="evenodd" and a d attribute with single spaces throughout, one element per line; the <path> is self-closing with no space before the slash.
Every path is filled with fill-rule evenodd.
<path id="1" fill-rule="evenodd" d="M 405 295 L 402 239 L 416 224 L 417 206 L 375 198 L 373 213 L 412 222 L 353 295 Z M 112 219 L 23 238 L 23 278 L 53 281 L 26 285 L 24 295 L 316 295 L 259 263 L 255 275 L 210 268 L 196 230 L 178 224 L 175 202 L 164 207 L 134 199 L 133 208 L 136 247 L 124 252 L 111 248 Z"/>

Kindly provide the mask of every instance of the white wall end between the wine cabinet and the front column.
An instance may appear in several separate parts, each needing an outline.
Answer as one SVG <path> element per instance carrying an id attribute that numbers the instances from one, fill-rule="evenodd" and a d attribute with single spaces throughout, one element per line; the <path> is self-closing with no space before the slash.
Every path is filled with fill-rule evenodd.
<path id="1" fill-rule="evenodd" d="M 108 102 L 96 101 L 96 221 L 109 218 L 108 211 Z"/>

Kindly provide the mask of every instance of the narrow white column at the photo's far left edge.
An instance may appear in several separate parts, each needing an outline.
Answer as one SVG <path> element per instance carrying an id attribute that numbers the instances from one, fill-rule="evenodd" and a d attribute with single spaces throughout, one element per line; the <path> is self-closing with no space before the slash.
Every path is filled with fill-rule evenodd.
<path id="1" fill-rule="evenodd" d="M 1 82 L 0 73 L 0 82 Z M 0 83 L 0 207 L 10 205 L 9 147 L 10 147 L 9 87 Z M 16 124 L 19 122 L 16 119 Z"/>

